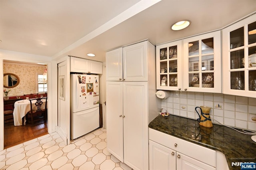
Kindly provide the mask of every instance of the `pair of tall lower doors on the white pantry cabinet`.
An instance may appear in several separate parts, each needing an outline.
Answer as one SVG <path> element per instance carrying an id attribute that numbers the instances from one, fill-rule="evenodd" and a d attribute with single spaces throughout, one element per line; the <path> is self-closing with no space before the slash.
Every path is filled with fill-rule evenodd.
<path id="1" fill-rule="evenodd" d="M 148 82 L 107 81 L 106 92 L 108 151 L 134 169 L 148 169 Z"/>

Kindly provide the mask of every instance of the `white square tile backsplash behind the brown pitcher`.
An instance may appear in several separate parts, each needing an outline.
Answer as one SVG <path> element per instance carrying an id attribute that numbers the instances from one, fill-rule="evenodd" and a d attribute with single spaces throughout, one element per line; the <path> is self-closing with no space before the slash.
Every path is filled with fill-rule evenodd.
<path id="1" fill-rule="evenodd" d="M 218 93 L 198 93 L 169 91 L 170 96 L 162 99 L 161 106 L 168 113 L 198 119 L 195 107 L 212 107 L 212 123 L 256 131 L 256 98 L 224 95 Z"/>

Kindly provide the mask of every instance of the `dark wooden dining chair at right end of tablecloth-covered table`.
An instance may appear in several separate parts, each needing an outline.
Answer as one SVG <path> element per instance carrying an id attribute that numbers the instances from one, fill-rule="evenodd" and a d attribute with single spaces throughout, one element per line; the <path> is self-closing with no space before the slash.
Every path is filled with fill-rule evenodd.
<path id="1" fill-rule="evenodd" d="M 42 107 L 43 99 L 45 99 L 45 107 Z M 28 117 L 30 117 L 30 122 L 34 125 L 34 121 L 38 119 L 44 119 L 44 123 L 46 123 L 47 117 L 47 97 L 29 99 L 30 101 L 30 111 L 26 114 L 26 121 L 28 121 Z M 35 103 L 33 102 L 35 101 Z M 36 106 L 36 107 L 34 107 Z M 35 108 L 35 109 L 33 109 Z M 29 122 L 28 121 L 28 122 Z M 22 125 L 24 125 L 24 119 L 22 119 Z"/>

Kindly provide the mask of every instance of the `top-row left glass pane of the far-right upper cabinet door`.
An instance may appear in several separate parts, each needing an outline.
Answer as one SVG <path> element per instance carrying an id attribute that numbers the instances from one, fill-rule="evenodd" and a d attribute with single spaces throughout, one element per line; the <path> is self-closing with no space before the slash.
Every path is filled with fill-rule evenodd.
<path id="1" fill-rule="evenodd" d="M 230 49 L 244 46 L 244 27 L 230 32 Z"/>

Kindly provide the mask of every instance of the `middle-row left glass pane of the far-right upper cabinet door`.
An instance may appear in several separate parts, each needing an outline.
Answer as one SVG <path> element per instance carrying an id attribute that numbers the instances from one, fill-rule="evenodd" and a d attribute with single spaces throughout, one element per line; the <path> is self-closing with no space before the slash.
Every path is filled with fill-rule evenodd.
<path id="1" fill-rule="evenodd" d="M 230 52 L 230 69 L 244 68 L 244 49 Z"/>

